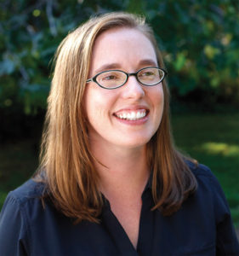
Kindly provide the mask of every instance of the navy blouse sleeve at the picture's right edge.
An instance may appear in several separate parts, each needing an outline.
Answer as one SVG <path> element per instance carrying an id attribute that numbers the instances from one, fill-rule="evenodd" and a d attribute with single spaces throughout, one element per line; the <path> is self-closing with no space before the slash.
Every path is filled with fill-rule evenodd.
<path id="1" fill-rule="evenodd" d="M 239 255 L 239 245 L 225 194 L 216 177 L 212 177 L 211 181 L 217 223 L 217 255 Z"/>

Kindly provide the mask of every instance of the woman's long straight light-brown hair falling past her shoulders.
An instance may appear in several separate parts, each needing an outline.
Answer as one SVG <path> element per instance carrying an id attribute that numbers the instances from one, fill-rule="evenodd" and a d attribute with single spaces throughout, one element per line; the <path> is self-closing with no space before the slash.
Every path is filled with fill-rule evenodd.
<path id="1" fill-rule="evenodd" d="M 55 207 L 77 221 L 98 221 L 103 206 L 98 189 L 99 175 L 88 145 L 83 94 L 94 41 L 100 33 L 115 27 L 130 27 L 143 32 L 156 50 L 159 67 L 163 67 L 150 26 L 145 24 L 144 18 L 126 13 L 111 13 L 88 20 L 68 34 L 57 49 L 39 170 L 44 170 L 42 177 Z M 177 211 L 196 189 L 196 179 L 184 157 L 174 148 L 165 79 L 162 86 L 162 121 L 147 145 L 147 154 L 153 170 L 153 209 L 158 208 L 168 215 Z"/>

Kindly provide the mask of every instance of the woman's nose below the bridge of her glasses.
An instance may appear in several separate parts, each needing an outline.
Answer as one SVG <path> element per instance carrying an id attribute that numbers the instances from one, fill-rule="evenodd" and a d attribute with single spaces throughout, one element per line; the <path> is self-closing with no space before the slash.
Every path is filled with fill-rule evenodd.
<path id="1" fill-rule="evenodd" d="M 122 86 L 122 89 L 122 96 L 125 98 L 133 98 L 138 100 L 145 96 L 145 90 L 135 76 L 129 76 L 127 83 Z"/>

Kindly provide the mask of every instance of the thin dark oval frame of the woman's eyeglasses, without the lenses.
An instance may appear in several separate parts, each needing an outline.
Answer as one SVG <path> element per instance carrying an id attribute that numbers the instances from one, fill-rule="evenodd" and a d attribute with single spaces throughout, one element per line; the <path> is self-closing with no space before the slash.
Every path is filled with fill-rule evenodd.
<path id="1" fill-rule="evenodd" d="M 87 83 L 89 83 L 89 82 L 94 82 L 95 84 L 98 84 L 98 85 L 99 85 L 101 88 L 103 88 L 103 89 L 106 89 L 106 90 L 113 90 L 113 89 L 117 89 L 117 88 L 122 87 L 122 85 L 124 85 L 124 84 L 126 84 L 126 83 L 128 82 L 128 78 L 129 78 L 130 76 L 134 76 L 134 77 L 137 79 L 137 81 L 139 82 L 139 84 L 143 84 L 143 85 L 145 85 L 145 86 L 154 86 L 154 85 L 156 85 L 156 84 L 150 84 L 150 85 L 149 85 L 149 84 L 144 84 L 144 83 L 142 83 L 142 82 L 139 81 L 138 73 L 139 73 L 140 71 L 144 70 L 144 69 L 147 69 L 147 68 L 156 68 L 156 69 L 161 70 L 161 71 L 163 72 L 163 77 L 162 77 L 162 79 L 160 79 L 160 81 L 157 82 L 156 84 L 160 84 L 160 83 L 162 82 L 162 80 L 166 77 L 166 75 L 168 74 L 168 72 L 167 72 L 165 69 L 163 69 L 162 67 L 143 67 L 143 68 L 140 68 L 140 69 L 139 69 L 137 72 L 135 72 L 135 73 L 126 73 L 126 72 L 124 72 L 124 71 L 122 71 L 122 70 L 119 70 L 119 69 L 110 69 L 110 70 L 105 70 L 105 71 L 102 71 L 102 72 L 100 72 L 100 73 L 97 73 L 93 78 L 87 79 L 86 82 L 87 82 Z M 111 87 L 111 88 L 104 87 L 104 86 L 102 86 L 101 84 L 99 84 L 99 83 L 97 82 L 97 80 L 96 80 L 97 77 L 98 77 L 100 74 L 102 74 L 102 73 L 107 73 L 107 72 L 109 72 L 109 71 L 119 71 L 119 72 L 121 72 L 121 73 L 126 74 L 125 82 L 124 82 L 123 84 L 121 84 L 121 85 L 118 85 L 118 86 L 116 86 L 116 87 Z"/>

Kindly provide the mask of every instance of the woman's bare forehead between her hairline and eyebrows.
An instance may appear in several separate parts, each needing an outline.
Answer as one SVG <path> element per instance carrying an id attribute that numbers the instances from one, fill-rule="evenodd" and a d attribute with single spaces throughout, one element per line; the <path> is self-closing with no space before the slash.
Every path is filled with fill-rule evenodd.
<path id="1" fill-rule="evenodd" d="M 100 34 L 94 42 L 91 70 L 108 63 L 118 66 L 137 65 L 143 60 L 156 61 L 156 52 L 149 38 L 135 28 L 113 28 Z"/>

